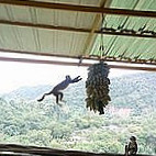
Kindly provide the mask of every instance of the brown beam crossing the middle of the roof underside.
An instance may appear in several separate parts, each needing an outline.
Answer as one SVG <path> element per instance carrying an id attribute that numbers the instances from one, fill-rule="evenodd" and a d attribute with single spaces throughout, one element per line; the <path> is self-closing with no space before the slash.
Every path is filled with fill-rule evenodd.
<path id="1" fill-rule="evenodd" d="M 156 35 L 147 35 L 147 34 L 131 34 L 131 33 L 122 33 L 122 32 L 108 32 L 108 31 L 94 31 L 89 29 L 79 29 L 79 27 L 69 27 L 69 26 L 55 26 L 55 25 L 47 25 L 47 24 L 34 24 L 27 22 L 19 22 L 19 21 L 7 21 L 0 20 L 0 24 L 13 25 L 13 26 L 22 26 L 22 27 L 36 27 L 36 29 L 44 29 L 44 30 L 58 30 L 58 31 L 70 31 L 70 32 L 80 32 L 80 33 L 96 33 L 96 34 L 105 34 L 105 35 L 123 35 L 123 36 L 134 36 L 134 37 L 151 37 L 156 38 Z"/>

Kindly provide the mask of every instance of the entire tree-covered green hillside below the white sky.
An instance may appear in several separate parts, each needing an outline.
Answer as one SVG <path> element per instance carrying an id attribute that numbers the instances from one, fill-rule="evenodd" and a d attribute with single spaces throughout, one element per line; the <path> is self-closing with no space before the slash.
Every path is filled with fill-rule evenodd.
<path id="1" fill-rule="evenodd" d="M 111 79 L 112 101 L 104 115 L 86 109 L 85 81 L 66 89 L 63 107 L 49 96 L 53 87 L 22 87 L 0 99 L 0 143 L 38 145 L 64 149 L 124 153 L 131 135 L 138 152 L 156 154 L 156 74 Z"/>

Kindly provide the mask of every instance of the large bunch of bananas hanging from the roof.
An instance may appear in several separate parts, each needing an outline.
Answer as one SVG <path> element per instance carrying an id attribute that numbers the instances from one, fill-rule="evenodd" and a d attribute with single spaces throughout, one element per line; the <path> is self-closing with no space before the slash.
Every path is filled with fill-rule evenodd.
<path id="1" fill-rule="evenodd" d="M 109 66 L 103 62 L 88 68 L 89 73 L 86 81 L 87 108 L 90 108 L 90 111 L 99 111 L 99 114 L 104 114 L 104 108 L 111 101 L 109 96 Z"/>

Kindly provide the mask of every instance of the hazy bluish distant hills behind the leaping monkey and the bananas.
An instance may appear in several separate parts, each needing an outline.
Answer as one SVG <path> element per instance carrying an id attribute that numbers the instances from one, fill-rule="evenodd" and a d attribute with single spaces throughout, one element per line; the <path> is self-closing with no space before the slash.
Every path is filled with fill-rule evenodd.
<path id="1" fill-rule="evenodd" d="M 3 94 L 8 100 L 24 99 L 36 100 L 44 92 L 51 91 L 53 86 L 42 85 L 36 87 L 22 87 L 18 90 Z M 111 79 L 110 96 L 111 103 L 115 107 L 144 108 L 156 105 L 156 74 L 143 73 Z M 65 100 L 73 105 L 83 104 L 86 97 L 85 80 L 70 85 L 65 91 Z M 47 97 L 49 99 L 49 97 Z M 55 100 L 52 96 L 51 100 Z"/>

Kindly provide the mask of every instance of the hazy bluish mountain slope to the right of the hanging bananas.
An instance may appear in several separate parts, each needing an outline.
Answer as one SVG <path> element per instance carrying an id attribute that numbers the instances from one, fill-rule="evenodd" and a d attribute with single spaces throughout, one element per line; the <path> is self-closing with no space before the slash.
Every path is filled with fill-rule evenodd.
<path id="1" fill-rule="evenodd" d="M 115 105 L 156 107 L 156 74 L 135 74 L 111 80 L 110 94 Z"/>

